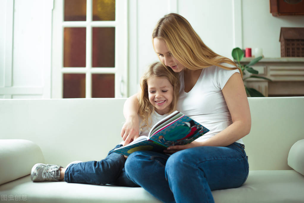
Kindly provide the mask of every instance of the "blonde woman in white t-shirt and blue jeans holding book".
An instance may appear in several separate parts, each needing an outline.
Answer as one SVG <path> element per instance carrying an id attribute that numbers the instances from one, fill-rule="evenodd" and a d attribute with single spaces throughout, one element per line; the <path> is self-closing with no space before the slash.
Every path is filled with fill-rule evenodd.
<path id="1" fill-rule="evenodd" d="M 126 175 L 163 202 L 214 202 L 212 190 L 239 187 L 248 176 L 242 138 L 250 131 L 251 117 L 241 71 L 175 13 L 158 21 L 152 42 L 160 61 L 179 73 L 177 110 L 210 131 L 188 145 L 169 147 L 166 154 L 132 153 Z M 125 143 L 139 136 L 137 96 L 124 106 Z"/>

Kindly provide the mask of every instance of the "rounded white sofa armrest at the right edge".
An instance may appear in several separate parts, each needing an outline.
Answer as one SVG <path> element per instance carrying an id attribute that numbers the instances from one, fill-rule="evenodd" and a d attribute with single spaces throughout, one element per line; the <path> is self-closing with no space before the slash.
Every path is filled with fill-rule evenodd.
<path id="1" fill-rule="evenodd" d="M 287 160 L 288 166 L 304 175 L 304 139 L 292 145 Z"/>

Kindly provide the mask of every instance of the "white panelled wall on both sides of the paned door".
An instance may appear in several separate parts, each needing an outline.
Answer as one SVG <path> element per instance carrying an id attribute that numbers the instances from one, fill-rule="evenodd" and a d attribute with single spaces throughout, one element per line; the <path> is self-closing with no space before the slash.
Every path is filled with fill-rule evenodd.
<path id="1" fill-rule="evenodd" d="M 0 0 L 0 98 L 51 97 L 52 2 Z M 265 57 L 280 57 L 280 27 L 304 27 L 304 16 L 273 17 L 268 0 L 128 0 L 127 9 L 129 96 L 147 65 L 158 60 L 151 34 L 167 13 L 184 16 L 207 46 L 229 58 L 236 46 L 261 47 Z"/>

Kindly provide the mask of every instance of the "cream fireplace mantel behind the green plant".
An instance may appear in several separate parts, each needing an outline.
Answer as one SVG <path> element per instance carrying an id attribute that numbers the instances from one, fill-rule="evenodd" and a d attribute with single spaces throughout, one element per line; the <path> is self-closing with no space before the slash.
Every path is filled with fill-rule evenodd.
<path id="1" fill-rule="evenodd" d="M 241 64 L 248 64 L 253 58 L 243 58 Z M 264 96 L 304 96 L 304 57 L 262 58 L 252 66 L 258 75 L 272 81 L 250 78 L 244 83 L 257 89 Z M 245 77 L 250 73 L 246 72 Z"/>

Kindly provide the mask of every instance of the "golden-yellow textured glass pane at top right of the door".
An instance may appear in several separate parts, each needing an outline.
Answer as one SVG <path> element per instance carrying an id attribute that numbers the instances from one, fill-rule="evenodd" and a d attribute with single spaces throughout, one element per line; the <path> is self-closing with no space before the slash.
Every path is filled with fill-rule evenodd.
<path id="1" fill-rule="evenodd" d="M 93 0 L 93 20 L 115 20 L 115 0 Z"/>

